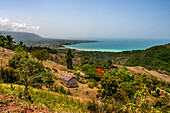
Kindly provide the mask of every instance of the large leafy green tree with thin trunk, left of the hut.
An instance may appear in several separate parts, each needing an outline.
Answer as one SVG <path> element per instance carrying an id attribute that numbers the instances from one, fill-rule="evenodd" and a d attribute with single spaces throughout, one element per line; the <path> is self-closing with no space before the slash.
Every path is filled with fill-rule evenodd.
<path id="1" fill-rule="evenodd" d="M 30 58 L 26 52 L 22 51 L 22 48 L 18 48 L 16 54 L 8 62 L 9 66 L 18 70 L 20 83 L 25 85 L 25 96 L 28 95 L 28 86 L 37 87 L 41 86 L 42 83 L 52 81 L 52 75 L 45 70 L 42 62 Z"/>

